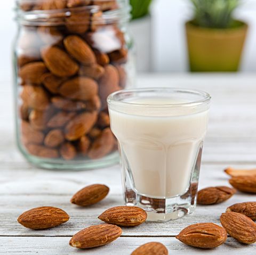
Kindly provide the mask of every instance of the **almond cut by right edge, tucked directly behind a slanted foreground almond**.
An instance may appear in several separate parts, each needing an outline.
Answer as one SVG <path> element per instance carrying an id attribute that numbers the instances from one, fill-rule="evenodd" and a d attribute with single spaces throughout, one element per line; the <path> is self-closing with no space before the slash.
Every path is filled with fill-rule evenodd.
<path id="1" fill-rule="evenodd" d="M 256 220 L 256 202 L 244 202 L 233 204 L 227 208 L 226 212 L 233 211 L 242 213 L 252 220 Z"/>

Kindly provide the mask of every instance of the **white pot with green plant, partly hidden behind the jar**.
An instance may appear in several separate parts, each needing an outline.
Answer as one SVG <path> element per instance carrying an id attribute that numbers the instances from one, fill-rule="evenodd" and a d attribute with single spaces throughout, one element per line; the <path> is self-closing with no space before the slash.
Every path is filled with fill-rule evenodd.
<path id="1" fill-rule="evenodd" d="M 136 65 L 139 72 L 151 69 L 151 17 L 149 14 L 152 0 L 130 0 L 132 7 L 130 31 L 136 49 Z"/>

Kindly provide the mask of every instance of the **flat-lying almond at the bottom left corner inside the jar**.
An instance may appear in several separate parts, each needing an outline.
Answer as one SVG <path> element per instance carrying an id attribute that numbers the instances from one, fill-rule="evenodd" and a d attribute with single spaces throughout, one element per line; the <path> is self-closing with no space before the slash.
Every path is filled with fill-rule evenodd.
<path id="1" fill-rule="evenodd" d="M 60 157 L 58 150 L 47 148 L 43 145 L 27 144 L 26 149 L 30 154 L 40 158 L 57 159 Z"/>

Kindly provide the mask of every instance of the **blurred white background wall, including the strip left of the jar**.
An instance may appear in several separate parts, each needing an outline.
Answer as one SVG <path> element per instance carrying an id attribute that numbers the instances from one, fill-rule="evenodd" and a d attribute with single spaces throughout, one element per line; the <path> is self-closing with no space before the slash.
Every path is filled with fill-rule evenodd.
<path id="1" fill-rule="evenodd" d="M 143 1 L 143 0 L 138 0 Z M 11 47 L 17 31 L 14 0 L 1 1 L 0 78 L 10 81 Z M 249 23 L 242 71 L 256 71 L 256 0 L 243 0 L 236 17 Z M 184 23 L 191 17 L 189 0 L 155 0 L 151 8 L 151 71 L 187 71 Z"/>

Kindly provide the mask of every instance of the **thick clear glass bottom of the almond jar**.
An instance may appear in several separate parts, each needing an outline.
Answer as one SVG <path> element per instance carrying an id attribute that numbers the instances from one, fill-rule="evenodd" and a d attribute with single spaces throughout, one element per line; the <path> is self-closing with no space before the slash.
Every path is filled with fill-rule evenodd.
<path id="1" fill-rule="evenodd" d="M 22 146 L 19 146 L 21 153 L 24 157 L 32 163 L 34 166 L 44 169 L 55 170 L 89 170 L 113 166 L 119 162 L 118 151 L 113 152 L 106 157 L 97 160 L 84 159 L 84 160 L 63 160 L 63 159 L 49 159 L 39 158 L 28 154 L 23 150 Z"/>

